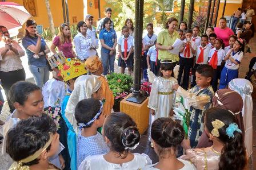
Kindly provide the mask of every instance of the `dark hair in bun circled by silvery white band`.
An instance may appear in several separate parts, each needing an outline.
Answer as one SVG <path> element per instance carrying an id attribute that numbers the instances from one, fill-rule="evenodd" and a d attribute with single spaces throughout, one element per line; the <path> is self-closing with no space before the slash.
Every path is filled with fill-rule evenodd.
<path id="1" fill-rule="evenodd" d="M 110 150 L 119 152 L 122 159 L 128 154 L 126 147 L 134 147 L 139 143 L 141 135 L 133 119 L 121 112 L 114 112 L 105 119 L 103 126 L 105 136 L 110 140 Z"/>

